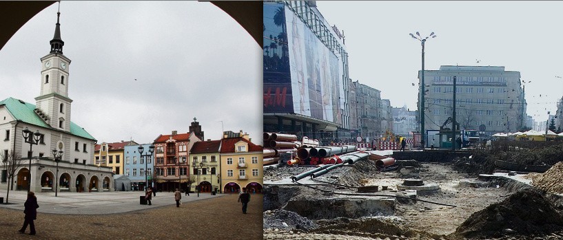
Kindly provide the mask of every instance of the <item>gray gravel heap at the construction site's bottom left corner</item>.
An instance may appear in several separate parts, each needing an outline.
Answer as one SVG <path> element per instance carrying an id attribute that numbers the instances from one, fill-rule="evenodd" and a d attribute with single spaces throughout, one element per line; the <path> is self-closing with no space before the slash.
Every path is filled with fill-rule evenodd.
<path id="1" fill-rule="evenodd" d="M 264 229 L 274 228 L 281 230 L 305 230 L 317 228 L 318 225 L 306 217 L 301 217 L 295 212 L 286 210 L 267 210 L 263 213 Z"/>

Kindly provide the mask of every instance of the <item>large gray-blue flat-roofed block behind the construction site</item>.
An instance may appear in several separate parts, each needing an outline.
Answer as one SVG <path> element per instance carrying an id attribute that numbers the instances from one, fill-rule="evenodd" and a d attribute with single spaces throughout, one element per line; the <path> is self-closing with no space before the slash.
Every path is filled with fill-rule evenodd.
<path id="1" fill-rule="evenodd" d="M 526 100 L 520 72 L 492 66 L 441 66 L 440 70 L 424 71 L 424 129 L 451 127 L 443 124 L 453 114 L 454 76 L 460 129 L 484 127 L 485 134 L 492 135 L 525 127 Z"/>

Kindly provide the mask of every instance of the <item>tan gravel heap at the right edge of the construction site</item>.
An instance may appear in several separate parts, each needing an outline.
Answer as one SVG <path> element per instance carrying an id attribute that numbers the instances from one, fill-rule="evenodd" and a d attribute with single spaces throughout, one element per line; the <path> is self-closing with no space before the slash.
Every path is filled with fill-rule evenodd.
<path id="1" fill-rule="evenodd" d="M 557 162 L 545 173 L 532 175 L 531 179 L 533 186 L 547 193 L 563 193 L 563 162 Z"/>

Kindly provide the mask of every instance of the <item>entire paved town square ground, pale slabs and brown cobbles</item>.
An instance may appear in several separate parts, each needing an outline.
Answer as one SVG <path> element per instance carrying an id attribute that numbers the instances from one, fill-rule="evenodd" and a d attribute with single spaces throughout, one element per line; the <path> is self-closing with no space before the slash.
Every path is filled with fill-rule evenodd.
<path id="1" fill-rule="evenodd" d="M 152 206 L 140 205 L 142 192 L 39 193 L 37 235 L 19 234 L 25 191 L 10 191 L 0 204 L 2 239 L 263 239 L 263 195 L 252 194 L 243 214 L 237 194 L 156 193 Z M 6 191 L 0 189 L 0 197 Z M 201 200 L 201 201 L 199 201 Z M 53 212 L 53 213 L 50 213 Z M 56 212 L 56 214 L 55 214 Z M 29 228 L 26 232 L 29 232 Z"/>

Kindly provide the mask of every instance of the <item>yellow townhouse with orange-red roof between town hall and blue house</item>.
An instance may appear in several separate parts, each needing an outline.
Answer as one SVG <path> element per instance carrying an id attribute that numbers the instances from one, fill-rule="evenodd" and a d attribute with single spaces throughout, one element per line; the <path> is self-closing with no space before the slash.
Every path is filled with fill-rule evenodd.
<path id="1" fill-rule="evenodd" d="M 109 166 L 114 174 L 123 174 L 123 150 L 125 146 L 136 145 L 134 141 L 102 142 L 94 146 L 94 164 Z"/>

